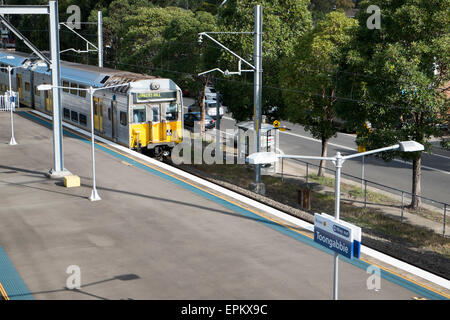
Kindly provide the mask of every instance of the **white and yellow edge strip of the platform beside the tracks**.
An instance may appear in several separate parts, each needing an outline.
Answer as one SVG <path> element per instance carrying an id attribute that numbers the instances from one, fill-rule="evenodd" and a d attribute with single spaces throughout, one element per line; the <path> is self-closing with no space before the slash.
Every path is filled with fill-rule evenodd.
<path id="1" fill-rule="evenodd" d="M 33 112 L 33 113 L 35 113 L 35 114 L 37 114 L 37 115 L 41 115 L 42 117 L 44 117 L 44 118 L 46 118 L 46 119 L 48 119 L 48 120 L 51 120 L 51 117 L 50 117 L 50 116 L 48 116 L 48 115 L 46 115 L 46 114 L 43 114 L 42 112 L 35 111 L 35 110 L 33 110 L 33 111 L 31 111 L 31 112 Z M 88 132 L 86 132 L 85 130 L 82 130 L 82 129 L 80 129 L 80 128 L 77 128 L 77 127 L 75 127 L 75 126 L 73 126 L 73 125 L 66 124 L 66 123 L 64 123 L 64 122 L 63 122 L 63 125 L 64 125 L 65 127 L 69 128 L 72 134 L 78 135 L 78 136 L 80 136 L 83 140 L 85 140 L 86 142 L 90 143 L 90 141 L 86 138 L 86 136 L 89 136 L 90 133 L 88 133 Z M 246 204 L 248 204 L 248 205 L 250 205 L 250 206 L 252 206 L 252 207 L 254 207 L 254 208 L 257 208 L 257 209 L 259 209 L 259 210 L 268 212 L 268 213 L 270 213 L 270 214 L 272 214 L 272 215 L 274 215 L 274 216 L 276 216 L 276 217 L 278 217 L 278 218 L 280 218 L 280 219 L 283 219 L 283 220 L 285 220 L 285 221 L 291 222 L 291 223 L 295 224 L 296 226 L 299 226 L 299 227 L 301 227 L 301 228 L 304 228 L 304 229 L 306 229 L 306 230 L 308 230 L 308 231 L 313 231 L 313 230 L 314 230 L 313 225 L 310 224 L 310 223 L 308 223 L 308 222 L 306 222 L 306 221 L 300 220 L 299 218 L 296 218 L 296 217 L 294 217 L 294 216 L 288 215 L 288 214 L 286 214 L 286 213 L 284 213 L 284 212 L 282 212 L 282 211 L 279 211 L 279 210 L 277 210 L 277 209 L 275 209 L 275 208 L 269 207 L 269 206 L 267 206 L 267 205 L 265 205 L 265 204 L 263 204 L 263 203 L 257 202 L 257 201 L 255 201 L 255 200 L 253 200 L 253 199 L 250 199 L 250 198 L 247 198 L 247 197 L 242 196 L 242 195 L 240 195 L 240 194 L 237 194 L 237 193 L 234 192 L 234 191 L 231 191 L 231 190 L 229 190 L 229 189 L 223 188 L 223 187 L 221 187 L 221 186 L 219 186 L 219 185 L 215 185 L 215 184 L 213 184 L 213 183 L 211 183 L 211 182 L 209 182 L 209 181 L 206 181 L 206 180 L 201 179 L 201 178 L 199 178 L 199 177 L 193 176 L 193 175 L 191 175 L 191 174 L 189 174 L 189 173 L 186 173 L 186 172 L 184 172 L 184 171 L 182 171 L 182 170 L 179 170 L 179 169 L 177 169 L 177 168 L 171 167 L 171 166 L 169 166 L 169 165 L 167 165 L 167 164 L 158 162 L 158 161 L 156 161 L 156 160 L 154 160 L 154 159 L 152 159 L 152 158 L 148 158 L 148 157 L 146 157 L 146 156 L 144 156 L 144 155 L 142 155 L 142 154 L 139 154 L 139 153 L 137 153 L 137 152 L 135 152 L 135 151 L 133 151 L 133 150 L 130 150 L 130 149 L 126 148 L 126 147 L 123 147 L 123 146 L 121 146 L 121 145 L 117 145 L 117 144 L 115 144 L 115 143 L 113 143 L 113 142 L 111 142 L 111 141 L 109 141 L 109 140 L 104 139 L 104 138 L 96 137 L 96 141 L 97 141 L 96 144 L 98 144 L 99 147 L 103 147 L 103 148 L 105 148 L 105 149 L 109 149 L 110 151 L 112 151 L 112 152 L 114 152 L 114 153 L 120 154 L 120 155 L 122 155 L 123 157 L 126 157 L 126 158 L 128 158 L 128 159 L 130 159 L 130 160 L 132 160 L 132 161 L 135 161 L 135 162 L 137 162 L 137 163 L 140 163 L 140 164 L 142 164 L 142 165 L 144 165 L 144 166 L 146 166 L 146 167 L 148 167 L 148 168 L 151 168 L 151 169 L 153 169 L 153 170 L 155 170 L 155 171 L 157 171 L 157 172 L 160 172 L 160 173 L 163 174 L 163 175 L 170 176 L 170 177 L 172 177 L 173 179 L 176 179 L 176 180 L 178 180 L 178 181 L 184 182 L 184 183 L 186 183 L 187 185 L 190 185 L 190 186 L 192 186 L 192 187 L 194 187 L 194 188 L 196 188 L 196 189 L 198 189 L 198 190 L 202 190 L 203 192 L 208 193 L 208 194 L 210 194 L 210 195 L 213 195 L 213 196 L 215 196 L 215 197 L 217 197 L 217 198 L 219 198 L 219 199 L 222 199 L 222 200 L 225 201 L 225 202 L 234 204 L 234 205 L 237 206 L 237 207 L 240 207 L 240 208 L 242 208 L 242 209 L 244 209 L 244 210 L 247 210 L 247 211 L 249 211 L 249 212 L 252 212 L 253 214 L 258 215 L 258 216 L 260 216 L 260 217 L 263 217 L 263 218 L 265 218 L 265 219 L 267 219 L 267 220 L 271 220 L 271 221 L 273 221 L 273 222 L 276 222 L 276 223 L 279 224 L 280 226 L 284 226 L 285 228 L 287 228 L 287 229 L 289 229 L 289 230 L 292 230 L 292 231 L 294 231 L 294 232 L 296 232 L 296 233 L 302 234 L 302 235 L 304 235 L 304 236 L 306 236 L 306 237 L 312 239 L 312 237 L 311 237 L 310 235 L 308 235 L 308 234 L 305 234 L 305 233 L 303 233 L 303 232 L 301 232 L 301 231 L 299 231 L 299 230 L 296 230 L 296 229 L 292 229 L 291 227 L 289 227 L 289 226 L 287 226 L 287 225 L 284 225 L 282 222 L 275 221 L 275 220 L 273 220 L 272 218 L 266 217 L 265 215 L 263 215 L 263 214 L 261 214 L 261 213 L 259 213 L 259 212 L 256 212 L 256 211 L 254 211 L 254 210 L 252 210 L 252 209 L 250 209 L 250 208 L 248 208 L 248 207 L 246 207 L 246 206 L 243 206 L 243 205 L 240 205 L 240 204 L 238 204 L 238 203 L 235 203 L 234 201 L 232 201 L 232 200 L 230 200 L 230 199 L 226 199 L 226 198 L 224 198 L 224 197 L 221 196 L 221 195 L 217 195 L 217 194 L 215 194 L 215 193 L 212 193 L 211 191 L 205 190 L 205 189 L 199 187 L 198 185 L 194 185 L 194 184 L 192 184 L 191 182 L 186 181 L 186 180 L 184 180 L 184 179 L 182 179 L 182 178 L 180 178 L 180 177 L 178 177 L 178 176 L 174 176 L 174 175 L 169 174 L 169 173 L 167 173 L 167 172 L 165 172 L 165 171 L 162 171 L 162 170 L 160 170 L 160 169 L 158 169 L 158 168 L 155 168 L 154 166 L 150 165 L 149 163 L 152 163 L 152 164 L 154 164 L 155 166 L 158 166 L 158 167 L 160 167 L 160 168 L 162 168 L 162 169 L 166 169 L 167 171 L 173 172 L 173 173 L 175 173 L 175 174 L 177 174 L 177 175 L 179 175 L 179 176 L 182 176 L 182 177 L 184 177 L 184 178 L 187 178 L 187 179 L 189 179 L 190 181 L 194 181 L 194 182 L 200 183 L 200 184 L 202 184 L 203 186 L 205 186 L 205 187 L 207 187 L 207 188 L 210 188 L 210 189 L 212 189 L 212 190 L 215 190 L 215 191 L 217 191 L 217 192 L 220 192 L 220 194 L 230 196 L 230 197 L 232 197 L 232 198 L 234 198 L 234 199 L 236 199 L 236 200 L 238 200 L 238 201 L 241 201 L 241 202 L 243 202 L 243 203 L 246 203 Z M 103 143 L 100 143 L 99 141 L 102 141 Z M 107 145 L 108 145 L 108 147 L 107 147 Z M 121 151 L 125 152 L 126 154 L 123 154 L 123 153 L 119 152 L 118 150 L 121 150 Z M 133 156 L 133 157 L 131 157 L 131 156 Z M 142 159 L 142 160 L 144 160 L 145 162 L 136 160 L 135 158 Z M 436 284 L 438 284 L 438 285 L 440 285 L 440 286 L 442 286 L 442 287 L 444 287 L 444 288 L 450 289 L 450 282 L 449 282 L 447 279 L 444 279 L 444 278 L 442 278 L 442 277 L 439 277 L 439 276 L 437 276 L 437 275 L 435 275 L 435 274 L 433 274 L 433 273 L 430 273 L 430 272 L 428 272 L 428 271 L 419 269 L 419 268 L 417 268 L 417 267 L 415 267 L 415 266 L 413 266 L 413 265 L 410 265 L 410 264 L 408 264 L 408 263 L 402 262 L 402 261 L 400 261 L 400 260 L 398 260 L 398 259 L 395 259 L 395 258 L 393 258 L 393 257 L 390 257 L 390 256 L 388 256 L 388 255 L 385 255 L 385 254 L 383 254 L 383 253 L 381 253 L 381 252 L 375 251 L 375 250 L 373 250 L 373 249 L 371 249 L 371 248 L 368 248 L 368 247 L 366 247 L 366 246 L 363 246 L 363 245 L 361 245 L 361 252 L 364 253 L 364 254 L 367 254 L 367 255 L 369 255 L 369 256 L 372 256 L 372 257 L 374 257 L 374 258 L 376 258 L 376 259 L 378 259 L 378 260 L 380 260 L 380 261 L 383 261 L 383 262 L 385 262 L 385 263 L 388 263 L 388 264 L 390 264 L 390 265 L 392 265 L 392 266 L 394 266 L 394 267 L 396 267 L 396 268 L 400 268 L 400 269 L 405 270 L 405 271 L 407 271 L 407 272 L 409 272 L 409 273 L 412 273 L 412 274 L 414 274 L 414 275 L 416 275 L 416 276 L 419 276 L 419 277 L 421 277 L 421 278 L 423 278 L 423 279 L 425 279 L 425 280 L 428 280 L 428 281 L 430 281 L 430 282 L 434 282 L 434 283 L 436 283 Z M 376 265 L 376 264 L 374 264 L 374 263 L 372 263 L 372 262 L 369 262 L 369 261 L 366 261 L 366 260 L 364 260 L 364 259 L 360 259 L 360 260 L 363 261 L 363 262 L 365 262 L 366 264 L 369 264 L 369 265 Z M 396 272 L 394 272 L 394 271 L 391 271 L 391 270 L 389 270 L 389 269 L 387 269 L 387 268 L 385 268 L 385 267 L 382 267 L 382 266 L 379 266 L 379 265 L 377 265 L 377 266 L 378 266 L 380 269 L 383 269 L 384 271 L 386 271 L 388 274 L 395 275 L 395 276 L 397 276 L 397 277 L 399 277 L 399 278 L 401 278 L 401 279 L 404 279 L 405 281 L 414 283 L 415 285 L 417 285 L 417 286 L 419 286 L 419 287 L 425 288 L 425 289 L 427 289 L 428 291 L 434 292 L 434 293 L 436 293 L 436 294 L 438 294 L 438 295 L 440 295 L 440 296 L 442 296 L 442 297 L 445 297 L 445 298 L 447 298 L 447 299 L 450 299 L 450 296 L 447 295 L 447 294 L 445 294 L 445 293 L 443 293 L 443 292 L 437 291 L 437 290 L 435 290 L 435 289 L 433 289 L 433 288 L 430 288 L 430 287 L 428 287 L 428 286 L 426 286 L 426 285 L 424 285 L 424 284 L 418 283 L 418 282 L 416 282 L 416 281 L 414 281 L 414 280 L 412 280 L 412 279 L 409 279 L 409 278 L 407 278 L 407 277 L 405 277 L 405 276 L 403 276 L 403 275 L 400 275 L 400 274 L 398 274 L 398 273 L 396 273 Z"/>

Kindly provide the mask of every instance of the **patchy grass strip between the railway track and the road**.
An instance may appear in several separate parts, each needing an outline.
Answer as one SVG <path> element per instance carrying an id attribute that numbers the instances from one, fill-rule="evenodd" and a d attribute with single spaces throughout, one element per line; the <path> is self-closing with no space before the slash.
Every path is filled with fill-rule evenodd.
<path id="1" fill-rule="evenodd" d="M 197 170 L 203 171 L 210 176 L 239 187 L 248 189 L 254 181 L 254 171 L 248 165 L 192 165 Z M 334 187 L 334 179 L 329 177 L 311 176 L 312 181 L 322 182 L 325 186 Z M 266 185 L 266 196 L 280 203 L 300 209 L 297 202 L 298 190 L 301 183 L 292 181 L 281 181 L 275 176 L 262 176 L 262 182 Z M 342 191 L 352 197 L 363 197 L 360 188 L 344 185 Z M 374 203 L 394 202 L 390 197 L 376 192 L 368 192 L 367 200 Z M 334 190 L 311 191 L 311 212 L 334 212 Z M 396 243 L 417 249 L 431 250 L 440 255 L 450 258 L 450 239 L 444 238 L 434 231 L 407 223 L 401 223 L 376 208 L 361 208 L 351 203 L 341 203 L 341 219 L 354 223 L 363 228 L 364 232 L 372 233 L 387 238 Z"/>

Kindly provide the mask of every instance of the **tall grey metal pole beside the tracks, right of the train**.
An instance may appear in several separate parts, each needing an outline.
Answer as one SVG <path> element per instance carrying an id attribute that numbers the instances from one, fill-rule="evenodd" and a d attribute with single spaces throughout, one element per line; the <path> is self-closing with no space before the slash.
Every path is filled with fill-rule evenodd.
<path id="1" fill-rule="evenodd" d="M 255 6 L 255 33 L 254 33 L 254 129 L 256 132 L 256 152 L 261 148 L 261 95 L 262 95 L 262 7 Z M 261 165 L 255 165 L 256 190 L 260 190 Z"/>

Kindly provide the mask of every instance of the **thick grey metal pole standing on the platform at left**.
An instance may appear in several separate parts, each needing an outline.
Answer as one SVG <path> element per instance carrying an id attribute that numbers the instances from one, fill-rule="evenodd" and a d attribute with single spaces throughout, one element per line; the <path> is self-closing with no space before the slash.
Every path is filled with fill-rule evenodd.
<path id="1" fill-rule="evenodd" d="M 52 70 L 52 98 L 53 98 L 53 168 L 50 177 L 64 176 L 63 136 L 61 121 L 61 91 L 58 88 L 61 81 L 61 70 L 59 64 L 59 21 L 58 2 L 49 1 L 50 9 L 50 50 Z"/>

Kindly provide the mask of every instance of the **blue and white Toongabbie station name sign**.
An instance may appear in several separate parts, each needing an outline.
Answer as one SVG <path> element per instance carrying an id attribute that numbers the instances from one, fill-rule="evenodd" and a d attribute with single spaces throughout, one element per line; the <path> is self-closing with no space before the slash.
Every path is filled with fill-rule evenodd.
<path id="1" fill-rule="evenodd" d="M 361 228 L 325 213 L 315 213 L 314 242 L 349 259 L 359 259 Z"/>

